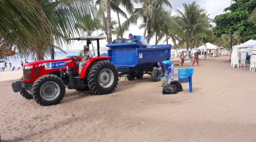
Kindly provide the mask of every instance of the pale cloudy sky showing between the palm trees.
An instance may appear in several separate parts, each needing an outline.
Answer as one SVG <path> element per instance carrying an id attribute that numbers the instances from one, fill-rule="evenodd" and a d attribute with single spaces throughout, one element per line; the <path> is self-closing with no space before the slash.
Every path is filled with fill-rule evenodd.
<path id="1" fill-rule="evenodd" d="M 172 5 L 172 14 L 176 14 L 176 9 L 178 9 L 179 11 L 183 11 L 183 5 L 182 3 L 192 3 L 194 0 L 169 0 L 169 2 Z M 210 18 L 214 18 L 216 15 L 222 14 L 224 13 L 223 10 L 230 6 L 230 0 L 196 0 L 197 4 L 199 4 L 202 8 L 205 8 L 205 10 L 207 11 L 208 14 L 210 14 Z M 140 7 L 140 5 L 136 4 L 134 5 L 135 8 Z M 127 15 L 129 17 L 129 15 Z M 116 13 L 111 11 L 111 17 L 117 20 L 117 16 Z M 120 22 L 121 24 L 125 21 L 125 18 L 120 16 Z M 132 33 L 133 35 L 143 35 L 144 29 L 139 29 L 138 26 L 141 24 L 141 21 L 138 21 L 137 26 L 133 25 L 130 26 L 129 31 L 125 32 L 125 34 L 123 35 L 124 38 L 128 38 L 128 34 Z M 94 32 L 93 36 L 97 36 L 98 33 Z M 114 35 L 112 35 L 112 40 L 116 39 L 116 37 Z M 150 41 L 149 44 L 154 45 L 155 43 L 155 37 L 152 38 L 152 40 Z M 168 41 L 169 44 L 173 44 L 173 42 L 171 40 Z M 163 41 L 160 41 L 159 44 L 162 44 Z M 75 41 L 73 44 L 68 45 L 68 46 L 64 46 L 63 49 L 67 50 L 67 49 L 83 49 L 83 45 L 86 44 L 86 41 Z M 96 42 L 93 42 L 94 47 L 96 47 Z M 106 47 L 107 41 L 106 40 L 100 40 L 100 46 L 101 47 Z M 163 43 L 166 44 L 166 43 Z M 91 50 L 91 48 L 90 48 Z M 92 50 L 91 50 L 92 51 Z"/>

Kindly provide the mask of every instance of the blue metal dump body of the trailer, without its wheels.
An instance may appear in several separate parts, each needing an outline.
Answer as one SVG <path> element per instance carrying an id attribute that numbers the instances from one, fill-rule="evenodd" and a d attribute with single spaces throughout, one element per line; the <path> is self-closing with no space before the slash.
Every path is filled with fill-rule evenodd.
<path id="1" fill-rule="evenodd" d="M 152 45 L 143 48 L 140 42 L 107 44 L 110 62 L 117 68 L 134 68 L 170 60 L 171 45 Z M 157 64 L 156 64 L 157 65 Z"/>

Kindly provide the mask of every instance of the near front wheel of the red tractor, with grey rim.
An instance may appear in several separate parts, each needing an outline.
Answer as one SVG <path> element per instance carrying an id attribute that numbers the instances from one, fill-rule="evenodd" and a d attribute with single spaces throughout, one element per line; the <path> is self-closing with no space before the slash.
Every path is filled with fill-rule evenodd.
<path id="1" fill-rule="evenodd" d="M 41 106 L 57 105 L 63 99 L 65 92 L 63 80 L 51 74 L 41 76 L 32 86 L 32 96 Z"/>

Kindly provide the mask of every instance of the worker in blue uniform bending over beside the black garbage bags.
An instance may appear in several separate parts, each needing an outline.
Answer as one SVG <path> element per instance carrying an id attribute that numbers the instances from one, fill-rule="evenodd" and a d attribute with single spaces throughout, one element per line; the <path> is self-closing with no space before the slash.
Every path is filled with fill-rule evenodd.
<path id="1" fill-rule="evenodd" d="M 165 70 L 165 74 L 164 76 L 166 77 L 166 79 L 169 79 L 169 76 L 171 76 L 171 81 L 174 81 L 174 64 L 172 61 L 170 60 L 166 60 L 166 61 L 159 61 L 158 63 L 158 68 L 162 68 L 162 74 L 161 77 L 163 77 L 163 73 Z"/>

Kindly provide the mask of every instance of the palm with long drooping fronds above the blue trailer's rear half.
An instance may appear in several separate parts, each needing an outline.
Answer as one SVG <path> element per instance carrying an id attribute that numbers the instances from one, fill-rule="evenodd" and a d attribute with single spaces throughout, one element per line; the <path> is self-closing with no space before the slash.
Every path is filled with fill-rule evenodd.
<path id="1" fill-rule="evenodd" d="M 171 4 L 168 0 L 138 0 L 138 3 L 142 5 L 141 8 L 137 8 L 133 11 L 133 14 L 123 23 L 124 29 L 129 28 L 131 24 L 137 24 L 137 20 L 145 17 L 145 27 L 143 36 L 146 37 L 146 31 L 150 26 L 150 19 L 161 17 L 164 22 L 170 27 L 173 27 L 177 31 L 182 31 L 181 27 L 165 12 L 159 11 L 163 5 L 171 8 Z"/>

